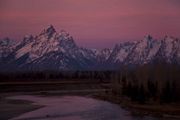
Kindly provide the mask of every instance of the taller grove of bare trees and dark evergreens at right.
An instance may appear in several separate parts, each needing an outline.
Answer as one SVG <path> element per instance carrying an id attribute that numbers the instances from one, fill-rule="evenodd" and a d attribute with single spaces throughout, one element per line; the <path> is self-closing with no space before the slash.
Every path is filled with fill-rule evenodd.
<path id="1" fill-rule="evenodd" d="M 139 103 L 180 102 L 180 67 L 169 64 L 124 67 L 112 77 L 113 93 Z"/>

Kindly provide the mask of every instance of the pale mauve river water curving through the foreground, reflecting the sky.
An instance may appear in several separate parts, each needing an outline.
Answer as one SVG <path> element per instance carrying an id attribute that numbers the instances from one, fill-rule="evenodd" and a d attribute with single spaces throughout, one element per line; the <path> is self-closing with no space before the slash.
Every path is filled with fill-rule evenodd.
<path id="1" fill-rule="evenodd" d="M 79 97 L 14 96 L 11 99 L 30 100 L 45 107 L 25 113 L 13 120 L 157 120 L 132 116 L 116 104 Z"/>

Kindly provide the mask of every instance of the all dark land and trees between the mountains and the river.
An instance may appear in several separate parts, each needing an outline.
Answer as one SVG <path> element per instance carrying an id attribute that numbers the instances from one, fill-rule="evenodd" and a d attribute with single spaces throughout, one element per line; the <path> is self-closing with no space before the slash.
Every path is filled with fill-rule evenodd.
<path id="1" fill-rule="evenodd" d="M 159 67 L 155 70 L 143 66 L 136 71 L 123 72 L 1 74 L 0 113 L 3 114 L 0 118 L 6 120 L 42 107 L 6 99 L 16 94 L 28 94 L 89 96 L 120 104 L 134 115 L 180 119 L 179 68 Z"/>

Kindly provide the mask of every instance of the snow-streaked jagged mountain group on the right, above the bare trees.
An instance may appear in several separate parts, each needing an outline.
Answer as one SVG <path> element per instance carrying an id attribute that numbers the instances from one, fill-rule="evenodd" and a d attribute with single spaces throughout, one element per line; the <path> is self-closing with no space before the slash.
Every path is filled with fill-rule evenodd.
<path id="1" fill-rule="evenodd" d="M 151 36 L 145 36 L 143 40 L 126 42 L 116 45 L 109 58 L 111 63 L 121 64 L 147 64 L 156 60 L 167 63 L 180 64 L 180 40 L 173 37 L 165 37 L 163 40 L 155 40 Z"/>

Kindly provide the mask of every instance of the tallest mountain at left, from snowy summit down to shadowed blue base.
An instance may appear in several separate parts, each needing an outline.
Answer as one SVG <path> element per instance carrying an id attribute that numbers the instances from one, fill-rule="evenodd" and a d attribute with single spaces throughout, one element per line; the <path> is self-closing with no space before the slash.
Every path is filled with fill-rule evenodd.
<path id="1" fill-rule="evenodd" d="M 26 36 L 16 45 L 11 58 L 14 60 L 9 64 L 19 70 L 81 70 L 90 69 L 96 62 L 93 51 L 78 47 L 69 33 L 57 33 L 53 26 L 35 37 Z"/>

